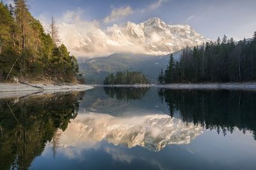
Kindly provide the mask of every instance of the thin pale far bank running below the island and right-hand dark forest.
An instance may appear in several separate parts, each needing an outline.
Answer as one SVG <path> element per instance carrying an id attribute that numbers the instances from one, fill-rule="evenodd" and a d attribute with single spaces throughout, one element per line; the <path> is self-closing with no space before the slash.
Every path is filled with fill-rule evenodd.
<path id="1" fill-rule="evenodd" d="M 197 90 L 256 90 L 256 82 L 250 83 L 173 83 L 166 85 L 91 85 L 92 87 L 156 87 L 165 89 L 197 89 Z"/>

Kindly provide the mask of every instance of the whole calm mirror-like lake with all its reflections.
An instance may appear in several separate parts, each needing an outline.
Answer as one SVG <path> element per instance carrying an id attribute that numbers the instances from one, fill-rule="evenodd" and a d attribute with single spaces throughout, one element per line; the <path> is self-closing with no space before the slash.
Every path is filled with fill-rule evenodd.
<path id="1" fill-rule="evenodd" d="M 0 99 L 0 169 L 256 169 L 256 92 L 96 87 Z"/>

